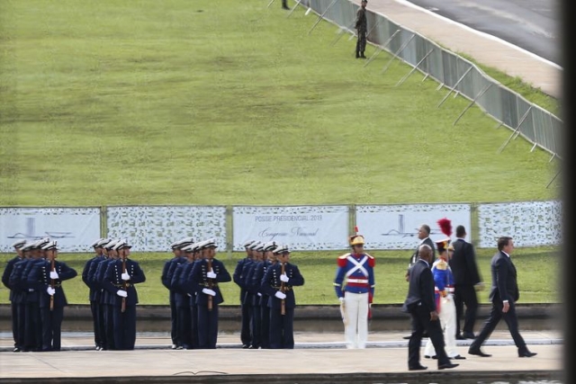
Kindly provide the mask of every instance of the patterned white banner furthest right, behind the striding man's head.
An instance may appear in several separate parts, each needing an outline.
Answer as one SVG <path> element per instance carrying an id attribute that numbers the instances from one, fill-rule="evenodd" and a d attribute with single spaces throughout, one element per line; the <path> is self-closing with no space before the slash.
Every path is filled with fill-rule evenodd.
<path id="1" fill-rule="evenodd" d="M 515 246 L 555 246 L 561 243 L 560 201 L 482 204 L 478 207 L 480 247 L 497 248 L 498 237 L 509 236 Z"/>

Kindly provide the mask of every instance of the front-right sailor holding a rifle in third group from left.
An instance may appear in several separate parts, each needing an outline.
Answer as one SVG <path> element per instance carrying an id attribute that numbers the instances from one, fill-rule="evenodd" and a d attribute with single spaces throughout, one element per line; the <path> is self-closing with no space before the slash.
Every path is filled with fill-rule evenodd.
<path id="1" fill-rule="evenodd" d="M 224 301 L 220 293 L 221 282 L 232 281 L 232 277 L 216 255 L 216 242 L 205 240 L 200 246 L 204 258 L 193 263 L 191 279 L 196 287 L 198 309 L 198 348 L 214 349 L 218 339 L 218 307 Z"/>

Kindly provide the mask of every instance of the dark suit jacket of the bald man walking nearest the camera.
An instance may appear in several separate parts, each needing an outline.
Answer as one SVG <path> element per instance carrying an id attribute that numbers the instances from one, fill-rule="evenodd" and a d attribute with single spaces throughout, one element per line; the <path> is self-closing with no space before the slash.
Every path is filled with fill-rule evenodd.
<path id="1" fill-rule="evenodd" d="M 419 304 L 421 303 L 421 304 Z M 436 310 L 434 300 L 434 276 L 428 263 L 419 260 L 410 268 L 410 281 L 408 286 L 408 296 L 402 306 L 402 311 L 411 312 L 415 306 L 421 305 L 427 312 Z"/>

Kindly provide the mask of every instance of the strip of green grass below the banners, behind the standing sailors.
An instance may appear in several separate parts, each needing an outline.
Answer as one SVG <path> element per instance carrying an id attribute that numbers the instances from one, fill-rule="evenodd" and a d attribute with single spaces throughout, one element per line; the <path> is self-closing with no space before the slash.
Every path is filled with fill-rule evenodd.
<path id="1" fill-rule="evenodd" d="M 478 267 L 486 290 L 479 293 L 482 302 L 488 302 L 488 293 L 491 285 L 490 261 L 494 255 L 492 249 L 478 250 Z M 375 251 L 371 253 L 376 258 L 374 279 L 376 289 L 374 303 L 400 304 L 406 298 L 408 283 L 404 280 L 404 273 L 412 251 Z M 4 272 L 5 261 L 12 255 L 0 255 L 0 264 Z M 58 260 L 67 263 L 76 269 L 78 276 L 72 280 L 64 281 L 63 287 L 68 302 L 73 304 L 88 303 L 88 289 L 82 282 L 81 274 L 86 260 L 92 255 L 63 254 Z M 217 255 L 232 274 L 234 268 L 243 254 Z M 338 254 L 329 252 L 294 252 L 291 262 L 298 265 L 304 277 L 304 285 L 294 289 L 299 304 L 338 304 L 332 282 L 336 276 L 336 259 Z M 559 275 L 559 251 L 557 248 L 518 248 L 512 255 L 518 269 L 518 286 L 520 288 L 520 303 L 554 303 L 558 298 L 559 284 L 556 276 Z M 168 254 L 134 254 L 133 260 L 140 263 L 146 273 L 147 280 L 137 286 L 141 304 L 168 304 L 168 293 L 160 281 L 160 275 Z M 230 281 L 220 284 L 220 290 L 225 299 L 225 305 L 239 304 L 238 286 Z M 8 290 L 3 286 L 0 289 L 0 303 L 8 302 Z"/>

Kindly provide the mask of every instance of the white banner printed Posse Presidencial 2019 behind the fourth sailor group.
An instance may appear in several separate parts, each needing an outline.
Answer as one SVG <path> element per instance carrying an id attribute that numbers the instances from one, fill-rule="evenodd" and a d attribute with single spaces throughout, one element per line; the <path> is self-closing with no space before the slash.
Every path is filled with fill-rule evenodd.
<path id="1" fill-rule="evenodd" d="M 235 251 L 249 240 L 276 241 L 294 250 L 348 247 L 348 207 L 234 207 Z"/>

